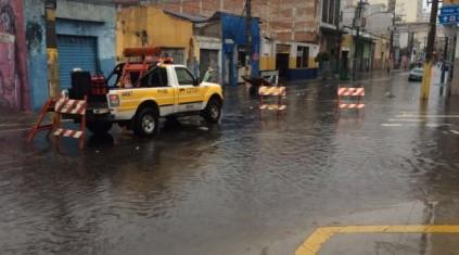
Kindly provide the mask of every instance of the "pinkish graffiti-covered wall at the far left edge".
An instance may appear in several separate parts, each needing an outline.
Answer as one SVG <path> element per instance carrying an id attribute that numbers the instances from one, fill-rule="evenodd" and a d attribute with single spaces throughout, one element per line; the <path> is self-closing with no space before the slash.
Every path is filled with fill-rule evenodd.
<path id="1" fill-rule="evenodd" d="M 0 106 L 29 110 L 23 2 L 0 1 Z"/>

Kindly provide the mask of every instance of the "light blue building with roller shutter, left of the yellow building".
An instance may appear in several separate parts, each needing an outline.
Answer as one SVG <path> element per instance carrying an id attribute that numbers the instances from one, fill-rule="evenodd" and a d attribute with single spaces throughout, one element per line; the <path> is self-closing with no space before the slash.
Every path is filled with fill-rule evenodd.
<path id="1" fill-rule="evenodd" d="M 49 97 L 42 0 L 25 0 L 27 69 L 31 107 Z M 107 1 L 59 0 L 56 35 L 61 89 L 71 86 L 71 72 L 79 67 L 107 75 L 115 66 L 116 7 Z"/>

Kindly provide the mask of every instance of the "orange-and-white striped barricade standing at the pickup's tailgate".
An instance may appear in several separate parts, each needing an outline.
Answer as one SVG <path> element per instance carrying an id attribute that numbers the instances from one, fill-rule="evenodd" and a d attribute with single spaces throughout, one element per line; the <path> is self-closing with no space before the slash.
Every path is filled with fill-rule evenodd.
<path id="1" fill-rule="evenodd" d="M 86 129 L 86 106 L 87 106 L 87 97 L 84 100 L 71 100 L 68 98 L 61 98 L 55 102 L 54 112 L 54 127 L 53 136 L 58 139 L 62 137 L 74 138 L 79 140 L 79 149 L 85 148 L 85 129 Z M 61 127 L 62 115 L 76 115 L 80 117 L 80 129 L 65 129 Z"/>

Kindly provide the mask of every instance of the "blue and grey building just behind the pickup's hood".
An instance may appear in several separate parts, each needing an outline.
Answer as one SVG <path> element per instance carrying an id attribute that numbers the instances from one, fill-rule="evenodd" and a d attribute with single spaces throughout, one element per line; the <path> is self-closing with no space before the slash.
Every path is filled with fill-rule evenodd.
<path id="1" fill-rule="evenodd" d="M 191 21 L 193 36 L 200 53 L 196 58 L 199 74 L 204 74 L 212 66 L 218 69 L 219 82 L 237 86 L 243 82 L 241 76 L 257 76 L 259 73 L 260 29 L 259 18 L 254 17 L 251 24 L 252 55 L 250 74 L 246 72 L 245 24 L 243 16 L 231 13 L 216 12 L 205 18 L 184 13 L 165 11 L 170 15 Z M 215 63 L 218 60 L 218 64 Z"/>

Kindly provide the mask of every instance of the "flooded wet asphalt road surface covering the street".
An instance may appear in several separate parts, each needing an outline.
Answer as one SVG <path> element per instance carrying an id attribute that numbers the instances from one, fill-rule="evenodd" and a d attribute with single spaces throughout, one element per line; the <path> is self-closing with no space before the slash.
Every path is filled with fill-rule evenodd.
<path id="1" fill-rule="evenodd" d="M 366 75 L 365 114 L 335 82 L 288 87 L 281 116 L 226 90 L 221 124 L 114 129 L 88 149 L 0 126 L 1 254 L 294 254 L 317 228 L 459 224 L 459 98 L 406 73 Z M 320 254 L 459 254 L 454 234 L 336 237 Z"/>

